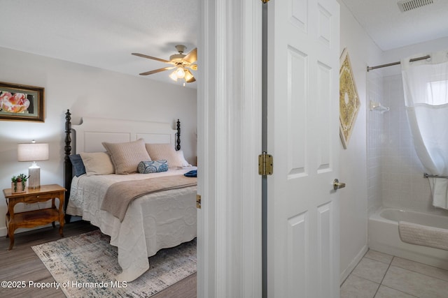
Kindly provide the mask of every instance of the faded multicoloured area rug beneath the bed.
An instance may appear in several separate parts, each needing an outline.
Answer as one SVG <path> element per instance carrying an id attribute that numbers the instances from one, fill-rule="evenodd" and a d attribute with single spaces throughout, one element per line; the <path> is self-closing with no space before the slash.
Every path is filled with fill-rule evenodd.
<path id="1" fill-rule="evenodd" d="M 99 230 L 32 246 L 66 297 L 151 297 L 196 272 L 196 239 L 149 258 L 149 270 L 118 283 L 118 250 Z"/>

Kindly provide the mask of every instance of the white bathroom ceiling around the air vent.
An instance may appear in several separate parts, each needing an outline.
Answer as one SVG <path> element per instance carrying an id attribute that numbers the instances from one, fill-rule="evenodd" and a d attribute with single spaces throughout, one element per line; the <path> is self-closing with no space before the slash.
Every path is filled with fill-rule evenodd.
<path id="1" fill-rule="evenodd" d="M 448 0 L 404 13 L 398 0 L 341 1 L 384 51 L 448 36 Z"/>

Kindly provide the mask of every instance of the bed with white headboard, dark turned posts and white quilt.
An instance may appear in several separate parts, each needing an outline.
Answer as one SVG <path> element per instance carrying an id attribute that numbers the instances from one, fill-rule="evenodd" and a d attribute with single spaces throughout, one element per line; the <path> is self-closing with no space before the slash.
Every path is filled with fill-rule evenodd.
<path id="1" fill-rule="evenodd" d="M 111 237 L 111 245 L 118 247 L 118 262 L 123 269 L 116 276 L 117 281 L 134 281 L 149 269 L 148 257 L 162 248 L 174 247 L 196 237 L 196 178 L 183 175 L 196 167 L 188 165 L 183 158 L 179 120 L 176 130 L 165 123 L 85 117 L 82 124 L 72 126 L 67 110 L 65 133 L 65 187 L 68 190 L 66 198 L 69 198 L 66 215 L 81 216 Z M 75 140 L 73 153 L 71 137 Z M 132 164 L 129 162 L 132 158 L 135 163 L 139 158 L 136 152 L 141 151 L 142 142 L 148 154 L 156 156 L 151 156 L 153 161 L 169 161 L 172 165 L 169 170 L 127 174 L 129 165 L 126 163 Z M 154 151 L 153 147 L 158 150 Z M 132 151 L 132 158 L 126 156 L 129 151 Z M 113 161 L 113 173 L 110 172 L 110 161 L 103 160 L 105 154 Z M 161 158 L 165 155 L 167 158 Z M 85 172 L 78 168 L 76 158 L 84 162 Z M 127 194 L 134 193 L 134 188 L 152 187 L 158 184 L 157 181 L 172 183 L 174 180 L 179 185 L 134 196 L 125 211 L 121 209 L 121 215 L 109 208 L 112 205 L 109 201 L 106 203 L 106 199 L 114 194 L 120 197 L 122 193 L 114 188 L 119 184 L 128 187 Z"/>

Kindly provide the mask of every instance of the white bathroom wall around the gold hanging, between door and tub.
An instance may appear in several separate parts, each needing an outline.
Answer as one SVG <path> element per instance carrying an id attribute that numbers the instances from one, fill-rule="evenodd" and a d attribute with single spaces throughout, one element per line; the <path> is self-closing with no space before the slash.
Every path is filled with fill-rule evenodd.
<path id="1" fill-rule="evenodd" d="M 366 74 L 367 65 L 381 61 L 381 50 L 354 19 L 342 1 L 341 53 L 349 51 L 351 67 L 355 77 L 360 111 L 354 124 L 347 149 L 340 149 L 339 181 L 346 183 L 340 190 L 340 235 L 341 235 L 341 281 L 356 266 L 367 251 L 367 161 L 366 161 Z"/>

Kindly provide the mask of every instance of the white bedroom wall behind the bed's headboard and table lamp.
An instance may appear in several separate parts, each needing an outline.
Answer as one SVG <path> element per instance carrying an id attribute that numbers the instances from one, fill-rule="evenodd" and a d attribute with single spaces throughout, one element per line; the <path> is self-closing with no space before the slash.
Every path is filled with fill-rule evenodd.
<path id="1" fill-rule="evenodd" d="M 168 122 L 181 120 L 181 147 L 195 163 L 196 90 L 146 77 L 50 59 L 0 47 L 0 82 L 45 88 L 45 123 L 0 121 L 0 188 L 10 177 L 27 173 L 28 163 L 17 161 L 20 142 L 46 142 L 50 159 L 40 161 L 41 184 L 64 186 L 64 122 L 67 109 L 73 124 L 81 117 L 110 117 Z M 0 235 L 6 234 L 6 202 L 0 195 Z M 20 230 L 18 230 L 19 232 Z"/>

